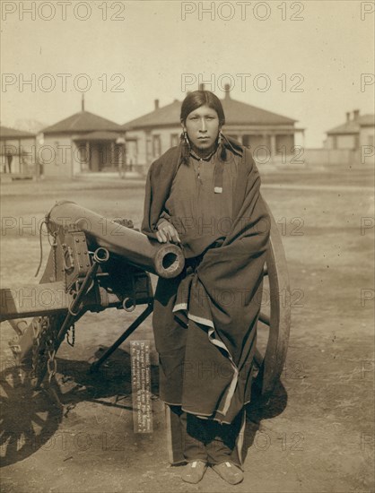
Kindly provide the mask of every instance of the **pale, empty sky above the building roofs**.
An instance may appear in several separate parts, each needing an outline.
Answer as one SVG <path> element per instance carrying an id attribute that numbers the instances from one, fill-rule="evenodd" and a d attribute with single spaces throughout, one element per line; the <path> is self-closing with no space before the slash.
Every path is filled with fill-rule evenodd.
<path id="1" fill-rule="evenodd" d="M 1 123 L 85 108 L 124 124 L 199 82 L 298 120 L 320 147 L 374 113 L 374 2 L 1 2 Z M 28 83 L 27 81 L 31 82 Z"/>

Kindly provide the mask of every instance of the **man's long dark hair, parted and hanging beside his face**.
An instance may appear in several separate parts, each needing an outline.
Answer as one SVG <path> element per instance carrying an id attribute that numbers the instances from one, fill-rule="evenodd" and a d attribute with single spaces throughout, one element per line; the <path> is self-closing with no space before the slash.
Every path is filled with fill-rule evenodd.
<path id="1" fill-rule="evenodd" d="M 208 106 L 208 108 L 214 109 L 219 117 L 219 125 L 225 124 L 225 115 L 224 110 L 222 109 L 222 101 L 215 96 L 214 92 L 211 91 L 193 91 L 189 92 L 187 97 L 182 101 L 181 112 L 179 115 L 179 119 L 182 124 L 185 124 L 188 118 L 188 115 L 197 108 L 201 106 Z M 181 143 L 182 143 L 182 155 L 181 160 L 184 164 L 188 164 L 188 158 L 190 155 L 190 146 L 185 141 L 184 134 L 181 134 Z M 222 160 L 227 159 L 227 153 L 225 146 L 222 144 L 222 149 L 220 151 L 220 158 Z"/>

